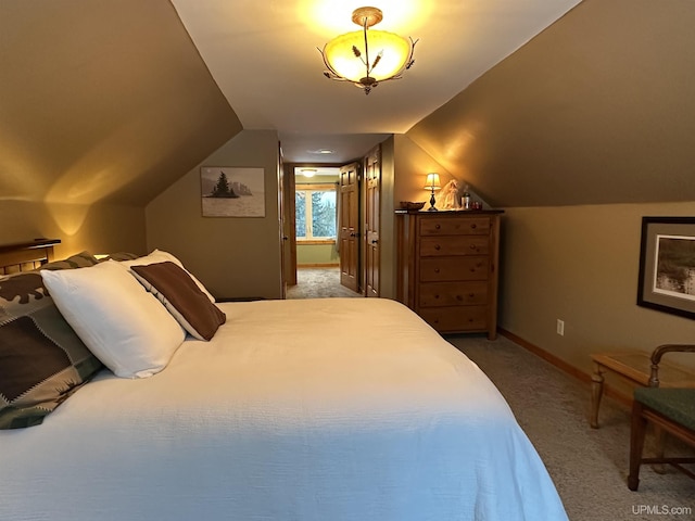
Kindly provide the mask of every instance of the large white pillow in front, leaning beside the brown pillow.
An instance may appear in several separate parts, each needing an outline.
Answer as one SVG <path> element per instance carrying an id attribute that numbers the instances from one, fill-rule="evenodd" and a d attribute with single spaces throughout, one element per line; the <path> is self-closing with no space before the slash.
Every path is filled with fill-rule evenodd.
<path id="1" fill-rule="evenodd" d="M 41 277 L 67 323 L 117 377 L 160 372 L 186 338 L 162 303 L 116 260 L 41 270 Z"/>

